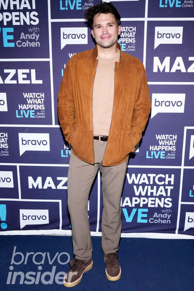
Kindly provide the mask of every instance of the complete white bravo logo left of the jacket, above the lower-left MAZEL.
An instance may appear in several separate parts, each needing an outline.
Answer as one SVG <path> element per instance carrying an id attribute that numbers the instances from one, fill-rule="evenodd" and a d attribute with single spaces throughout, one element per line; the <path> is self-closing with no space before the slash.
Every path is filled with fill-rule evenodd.
<path id="1" fill-rule="evenodd" d="M 18 133 L 19 155 L 25 151 L 49 151 L 49 133 Z"/>

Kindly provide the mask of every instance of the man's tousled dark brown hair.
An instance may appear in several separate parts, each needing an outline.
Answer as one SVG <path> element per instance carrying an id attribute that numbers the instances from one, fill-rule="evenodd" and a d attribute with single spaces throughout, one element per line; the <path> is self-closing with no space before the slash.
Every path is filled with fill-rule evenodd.
<path id="1" fill-rule="evenodd" d="M 85 15 L 84 15 L 85 20 L 87 21 L 91 29 L 93 29 L 94 16 L 100 13 L 103 13 L 103 14 L 112 13 L 116 20 L 117 26 L 121 24 L 121 16 L 119 15 L 118 11 L 113 6 L 113 4 L 107 3 L 107 2 L 100 2 L 96 6 L 90 7 L 85 12 Z"/>

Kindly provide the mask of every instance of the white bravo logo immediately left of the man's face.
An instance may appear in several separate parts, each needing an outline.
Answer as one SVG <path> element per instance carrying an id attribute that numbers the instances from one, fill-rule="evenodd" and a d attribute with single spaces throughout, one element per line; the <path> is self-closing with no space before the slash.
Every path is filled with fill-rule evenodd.
<path id="1" fill-rule="evenodd" d="M 87 45 L 87 27 L 66 27 L 61 28 L 61 49 L 66 45 Z"/>

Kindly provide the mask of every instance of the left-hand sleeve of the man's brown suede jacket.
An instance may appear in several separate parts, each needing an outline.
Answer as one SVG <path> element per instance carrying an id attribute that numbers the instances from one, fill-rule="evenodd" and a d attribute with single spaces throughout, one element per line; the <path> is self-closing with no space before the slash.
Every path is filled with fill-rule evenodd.
<path id="1" fill-rule="evenodd" d="M 65 140 L 71 143 L 75 133 L 75 108 L 69 64 L 65 67 L 64 76 L 59 89 L 58 116 Z"/>

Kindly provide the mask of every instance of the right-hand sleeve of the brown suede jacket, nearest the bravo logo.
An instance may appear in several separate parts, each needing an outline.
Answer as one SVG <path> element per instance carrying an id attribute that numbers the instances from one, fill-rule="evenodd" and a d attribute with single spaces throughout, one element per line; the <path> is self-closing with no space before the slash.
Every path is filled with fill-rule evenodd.
<path id="1" fill-rule="evenodd" d="M 142 138 L 142 132 L 146 127 L 146 123 L 151 109 L 151 101 L 147 85 L 146 71 L 144 65 L 142 63 L 141 65 L 142 67 L 140 73 L 140 85 L 135 97 L 130 132 L 133 147 L 136 146 Z"/>

